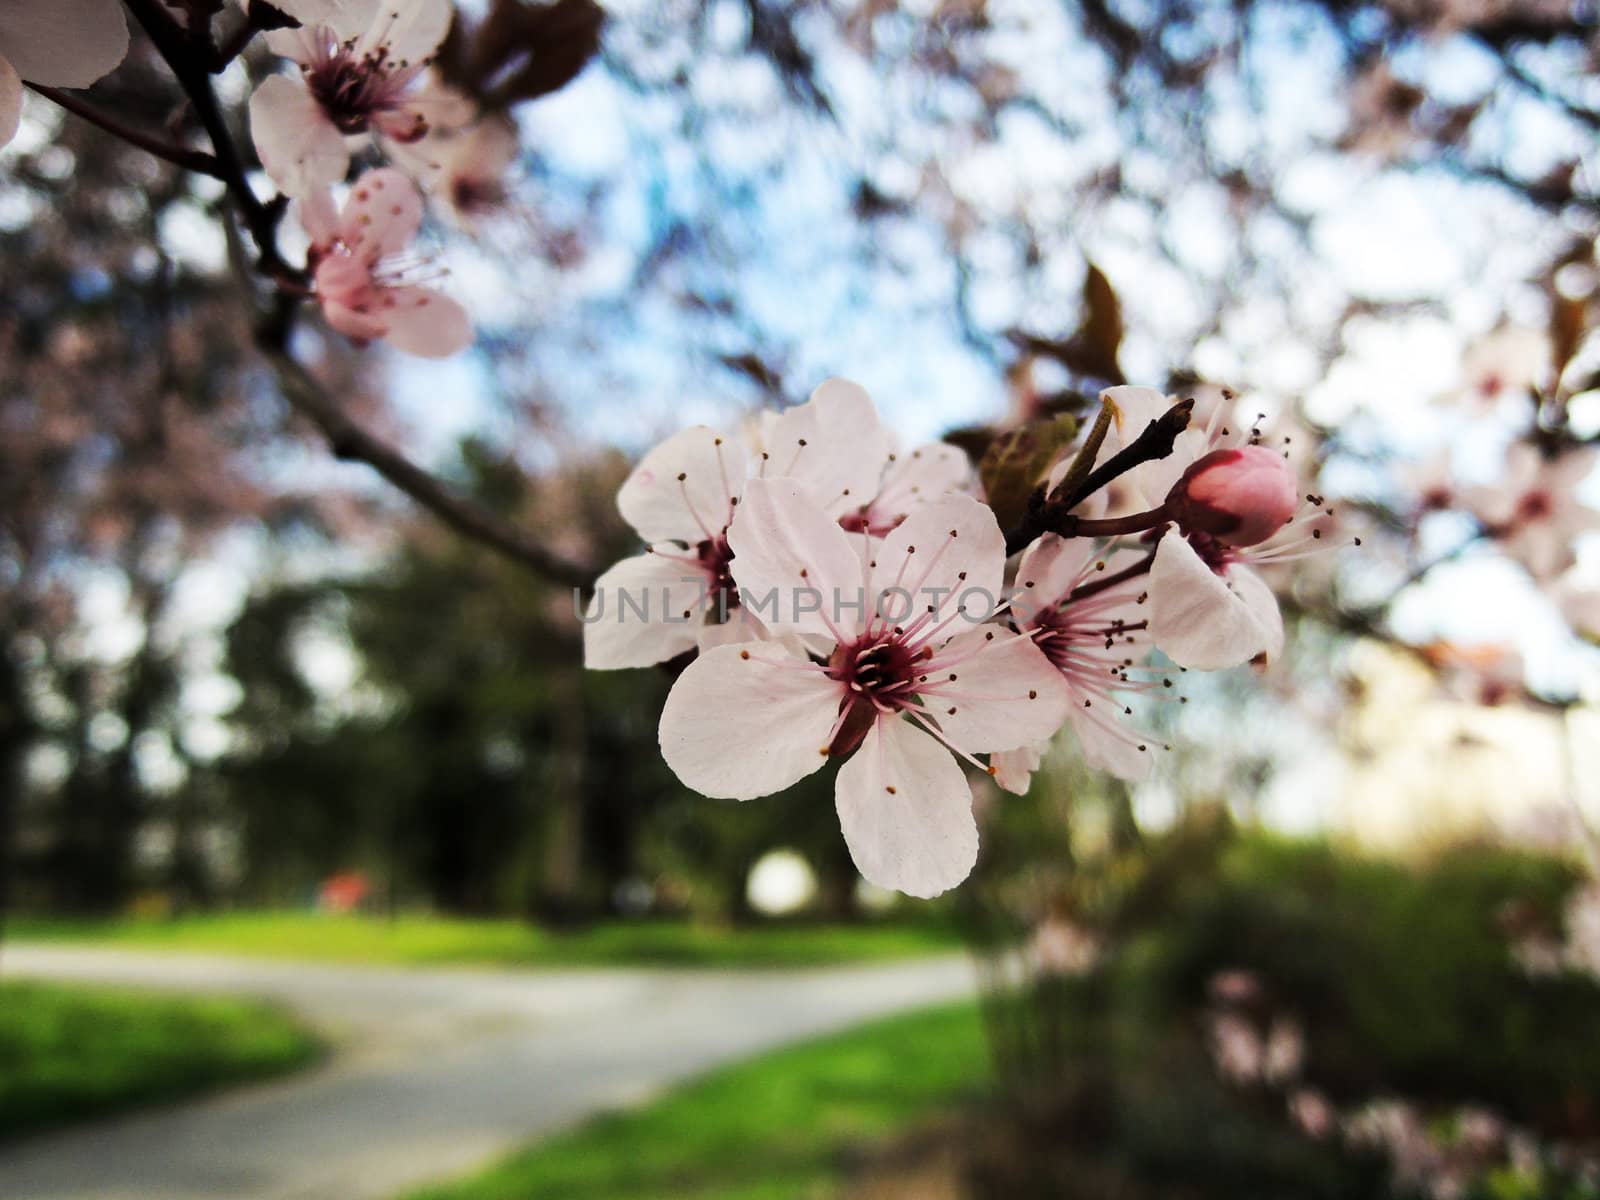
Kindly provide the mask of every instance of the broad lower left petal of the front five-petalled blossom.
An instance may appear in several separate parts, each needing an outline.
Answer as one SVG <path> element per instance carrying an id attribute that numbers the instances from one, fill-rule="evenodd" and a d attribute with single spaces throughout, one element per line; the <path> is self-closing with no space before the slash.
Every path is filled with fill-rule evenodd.
<path id="1" fill-rule="evenodd" d="M 838 683 L 781 645 L 718 646 L 672 685 L 661 755 L 702 795 L 771 795 L 827 762 L 840 699 Z"/>

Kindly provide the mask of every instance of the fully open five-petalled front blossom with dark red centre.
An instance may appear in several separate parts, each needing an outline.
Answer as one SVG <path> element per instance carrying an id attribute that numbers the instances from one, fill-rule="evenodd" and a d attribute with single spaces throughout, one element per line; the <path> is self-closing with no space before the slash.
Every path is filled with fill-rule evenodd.
<path id="1" fill-rule="evenodd" d="M 798 483 L 754 480 L 728 539 L 763 621 L 827 653 L 701 654 L 661 714 L 667 765 L 698 792 L 747 800 L 845 758 L 834 795 L 861 874 L 912 896 L 955 886 L 978 856 L 957 760 L 1035 744 L 1070 704 L 1030 638 L 973 624 L 1003 581 L 994 514 L 966 496 L 923 504 L 862 560 Z"/>

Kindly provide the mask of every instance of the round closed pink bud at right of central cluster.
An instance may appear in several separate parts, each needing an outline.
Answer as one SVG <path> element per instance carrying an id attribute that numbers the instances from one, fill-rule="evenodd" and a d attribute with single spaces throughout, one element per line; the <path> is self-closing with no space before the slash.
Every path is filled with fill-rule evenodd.
<path id="1" fill-rule="evenodd" d="M 1266 446 L 1213 450 L 1166 494 L 1184 533 L 1210 533 L 1229 546 L 1264 542 L 1288 525 L 1298 502 L 1294 469 Z"/>

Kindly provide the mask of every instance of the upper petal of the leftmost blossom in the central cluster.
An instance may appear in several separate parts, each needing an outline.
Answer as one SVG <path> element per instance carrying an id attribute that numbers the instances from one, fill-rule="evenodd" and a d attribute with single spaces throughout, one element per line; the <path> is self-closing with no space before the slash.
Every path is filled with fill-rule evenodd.
<path id="1" fill-rule="evenodd" d="M 616 494 L 616 507 L 646 542 L 693 547 L 722 534 L 742 488 L 738 438 L 691 426 L 645 454 Z"/>

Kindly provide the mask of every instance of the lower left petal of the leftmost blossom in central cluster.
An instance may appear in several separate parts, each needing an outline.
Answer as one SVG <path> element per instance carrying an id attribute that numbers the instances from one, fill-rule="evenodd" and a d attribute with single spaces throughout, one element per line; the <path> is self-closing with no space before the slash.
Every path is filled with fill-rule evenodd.
<path id="1" fill-rule="evenodd" d="M 706 611 L 706 578 L 656 554 L 624 558 L 595 581 L 586 610 L 589 670 L 648 667 L 693 650 Z"/>

